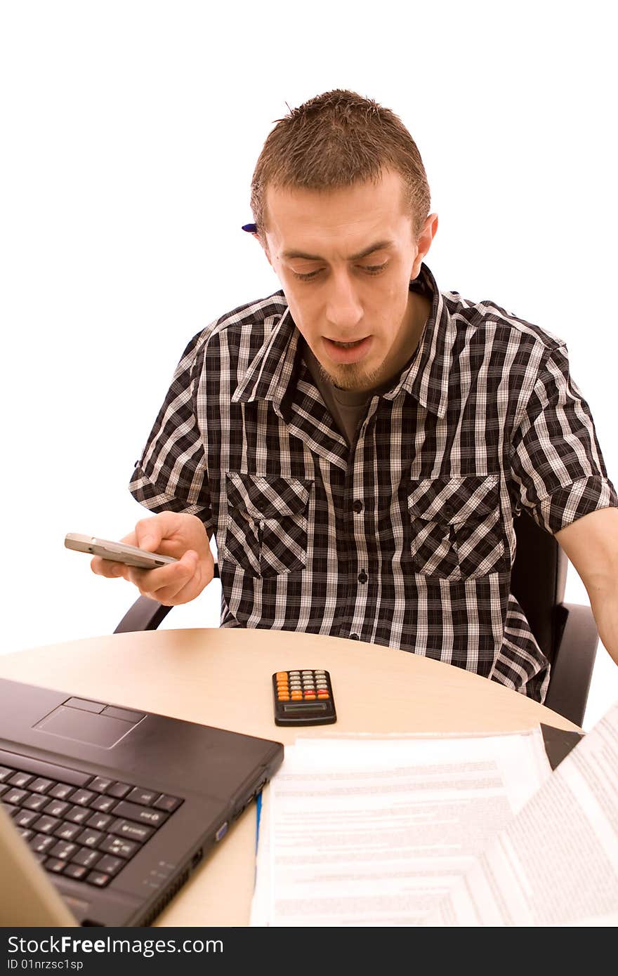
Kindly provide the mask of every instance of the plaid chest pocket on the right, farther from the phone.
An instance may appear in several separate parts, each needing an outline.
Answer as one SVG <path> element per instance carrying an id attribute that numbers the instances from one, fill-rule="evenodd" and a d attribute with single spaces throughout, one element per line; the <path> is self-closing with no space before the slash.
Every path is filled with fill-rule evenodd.
<path id="1" fill-rule="evenodd" d="M 508 570 L 498 474 L 410 481 L 407 507 L 415 572 L 473 580 Z"/>

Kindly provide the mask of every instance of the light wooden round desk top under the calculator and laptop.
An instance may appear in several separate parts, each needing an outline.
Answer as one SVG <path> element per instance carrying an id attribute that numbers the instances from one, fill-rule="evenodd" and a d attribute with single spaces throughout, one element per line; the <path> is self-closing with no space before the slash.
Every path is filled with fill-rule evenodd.
<path id="1" fill-rule="evenodd" d="M 330 671 L 338 721 L 284 729 L 270 675 Z M 0 676 L 114 705 L 292 743 L 341 732 L 505 732 L 566 718 L 495 681 L 388 647 L 283 630 L 150 630 L 0 656 Z M 157 925 L 246 925 L 255 869 L 255 805 L 207 857 Z"/>

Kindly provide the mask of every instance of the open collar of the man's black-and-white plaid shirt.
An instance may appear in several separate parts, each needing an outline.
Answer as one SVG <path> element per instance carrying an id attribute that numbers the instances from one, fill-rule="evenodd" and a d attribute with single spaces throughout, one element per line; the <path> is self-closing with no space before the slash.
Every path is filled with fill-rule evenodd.
<path id="1" fill-rule="evenodd" d="M 432 311 L 425 325 L 421 341 L 412 362 L 405 367 L 385 399 L 393 400 L 401 392 L 414 396 L 427 410 L 438 417 L 446 413 L 448 378 L 455 340 L 455 323 L 438 291 L 433 274 L 427 264 L 421 264 L 419 285 L 433 296 Z M 413 287 L 411 283 L 411 287 Z M 416 286 L 418 287 L 418 285 Z M 283 296 L 283 291 L 277 292 Z M 252 400 L 270 400 L 277 413 L 294 374 L 299 349 L 300 333 L 290 313 L 289 306 L 278 318 L 269 316 L 265 321 L 268 337 L 251 362 L 245 376 L 232 394 L 232 403 Z"/>

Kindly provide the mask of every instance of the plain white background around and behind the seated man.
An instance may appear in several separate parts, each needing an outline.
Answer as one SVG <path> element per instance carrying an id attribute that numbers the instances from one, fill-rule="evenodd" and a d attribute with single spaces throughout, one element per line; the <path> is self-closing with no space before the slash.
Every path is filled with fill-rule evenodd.
<path id="1" fill-rule="evenodd" d="M 137 595 L 63 536 L 144 515 L 127 483 L 186 343 L 280 288 L 240 229 L 263 142 L 334 88 L 418 143 L 438 287 L 566 341 L 618 480 L 611 8 L 1 4 L 0 650 L 109 633 Z M 218 587 L 166 626 L 217 627 Z M 599 647 L 585 727 L 617 698 Z"/>

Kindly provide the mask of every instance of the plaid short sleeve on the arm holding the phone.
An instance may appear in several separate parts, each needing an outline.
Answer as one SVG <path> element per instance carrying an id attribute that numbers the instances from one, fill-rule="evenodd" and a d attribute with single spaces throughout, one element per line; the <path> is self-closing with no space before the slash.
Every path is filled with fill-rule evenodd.
<path id="1" fill-rule="evenodd" d="M 172 384 L 129 484 L 133 497 L 152 511 L 197 515 L 210 532 L 212 510 L 204 443 L 195 409 L 204 333 L 195 336 Z"/>

